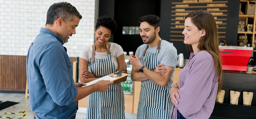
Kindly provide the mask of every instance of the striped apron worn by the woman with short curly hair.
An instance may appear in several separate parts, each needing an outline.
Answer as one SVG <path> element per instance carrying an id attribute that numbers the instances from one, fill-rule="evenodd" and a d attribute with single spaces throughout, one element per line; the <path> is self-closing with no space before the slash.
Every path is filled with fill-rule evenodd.
<path id="1" fill-rule="evenodd" d="M 116 72 L 111 59 L 109 46 L 108 58 L 95 59 L 95 45 L 93 45 L 91 72 L 95 77 L 103 77 Z M 124 119 L 124 91 L 121 83 L 109 85 L 106 92 L 94 92 L 89 95 L 87 103 L 87 119 Z"/>

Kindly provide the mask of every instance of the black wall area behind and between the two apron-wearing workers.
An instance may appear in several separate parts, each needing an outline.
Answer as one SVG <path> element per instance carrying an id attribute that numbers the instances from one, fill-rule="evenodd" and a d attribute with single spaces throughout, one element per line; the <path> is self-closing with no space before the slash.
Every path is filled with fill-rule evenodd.
<path id="1" fill-rule="evenodd" d="M 114 34 L 114 42 L 121 45 L 125 52 L 133 51 L 143 44 L 139 34 L 122 34 L 123 26 L 140 26 L 138 18 L 143 15 L 158 15 L 160 1 L 157 0 L 116 0 L 115 20 L 118 28 Z"/>

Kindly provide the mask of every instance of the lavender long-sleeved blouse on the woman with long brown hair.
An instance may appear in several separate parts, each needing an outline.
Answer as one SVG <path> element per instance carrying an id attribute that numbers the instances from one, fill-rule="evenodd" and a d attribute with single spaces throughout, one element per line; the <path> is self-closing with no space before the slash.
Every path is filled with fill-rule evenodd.
<path id="1" fill-rule="evenodd" d="M 180 98 L 172 106 L 171 119 L 177 119 L 177 110 L 187 119 L 208 119 L 214 108 L 218 75 L 214 58 L 207 51 L 190 54 L 190 60 L 179 75 Z"/>

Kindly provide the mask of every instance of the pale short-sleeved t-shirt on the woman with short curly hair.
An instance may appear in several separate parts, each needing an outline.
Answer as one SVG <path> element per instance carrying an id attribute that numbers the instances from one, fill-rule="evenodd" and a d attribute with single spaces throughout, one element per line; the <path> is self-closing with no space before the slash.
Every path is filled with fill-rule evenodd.
<path id="1" fill-rule="evenodd" d="M 109 51 L 111 52 L 111 59 L 114 62 L 115 69 L 118 71 L 117 57 L 124 54 L 124 50 L 120 45 L 110 42 Z M 89 66 L 90 66 L 91 58 L 92 58 L 92 45 L 86 46 L 86 48 L 84 48 L 82 50 L 82 52 L 80 53 L 79 57 L 89 61 Z M 96 59 L 106 59 L 106 58 L 108 58 L 108 53 L 107 53 L 107 51 L 103 52 L 103 53 L 95 51 L 95 58 Z"/>

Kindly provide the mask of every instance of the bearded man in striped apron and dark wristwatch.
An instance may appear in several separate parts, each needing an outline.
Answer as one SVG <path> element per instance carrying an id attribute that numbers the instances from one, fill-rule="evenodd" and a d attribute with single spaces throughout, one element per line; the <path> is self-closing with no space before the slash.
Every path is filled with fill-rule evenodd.
<path id="1" fill-rule="evenodd" d="M 160 38 L 158 16 L 142 16 L 139 23 L 144 44 L 138 47 L 135 56 L 130 55 L 131 79 L 141 81 L 137 119 L 168 119 L 172 102 L 169 91 L 177 64 L 177 50 Z"/>

